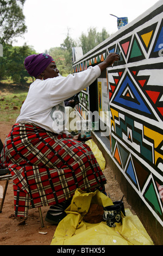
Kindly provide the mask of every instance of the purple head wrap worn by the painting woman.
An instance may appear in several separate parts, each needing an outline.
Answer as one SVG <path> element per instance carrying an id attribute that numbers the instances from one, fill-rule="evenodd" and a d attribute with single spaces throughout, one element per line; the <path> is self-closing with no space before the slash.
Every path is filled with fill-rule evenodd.
<path id="1" fill-rule="evenodd" d="M 54 59 L 45 53 L 33 54 L 24 60 L 24 66 L 30 76 L 39 76 Z"/>

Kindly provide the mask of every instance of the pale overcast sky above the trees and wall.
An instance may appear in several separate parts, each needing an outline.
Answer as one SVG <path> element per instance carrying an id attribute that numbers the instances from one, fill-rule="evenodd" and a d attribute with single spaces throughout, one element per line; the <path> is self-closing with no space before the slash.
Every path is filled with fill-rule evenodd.
<path id="1" fill-rule="evenodd" d="M 117 17 L 128 17 L 131 22 L 151 8 L 158 0 L 26 0 L 23 13 L 28 32 L 17 38 L 13 45 L 24 42 L 33 46 L 37 53 L 51 47 L 59 47 L 67 35 L 78 40 L 90 27 L 97 32 L 105 28 L 109 34 L 117 31 Z"/>

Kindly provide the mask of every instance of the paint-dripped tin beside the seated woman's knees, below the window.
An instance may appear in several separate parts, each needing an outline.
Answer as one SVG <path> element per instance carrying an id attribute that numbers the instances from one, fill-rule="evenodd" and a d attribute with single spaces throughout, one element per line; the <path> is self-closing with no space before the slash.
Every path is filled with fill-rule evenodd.
<path id="1" fill-rule="evenodd" d="M 79 134 L 81 134 L 81 138 L 84 136 L 86 137 L 91 137 L 91 121 L 90 120 L 82 120 L 82 121 L 77 121 L 77 130 Z"/>

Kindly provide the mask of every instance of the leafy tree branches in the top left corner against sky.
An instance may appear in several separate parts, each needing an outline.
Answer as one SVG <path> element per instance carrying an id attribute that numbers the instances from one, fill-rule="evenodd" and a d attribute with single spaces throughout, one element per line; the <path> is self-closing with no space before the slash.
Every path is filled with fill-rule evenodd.
<path id="1" fill-rule="evenodd" d="M 11 44 L 16 36 L 21 36 L 27 31 L 23 4 L 26 0 L 1 0 L 0 1 L 0 43 Z"/>

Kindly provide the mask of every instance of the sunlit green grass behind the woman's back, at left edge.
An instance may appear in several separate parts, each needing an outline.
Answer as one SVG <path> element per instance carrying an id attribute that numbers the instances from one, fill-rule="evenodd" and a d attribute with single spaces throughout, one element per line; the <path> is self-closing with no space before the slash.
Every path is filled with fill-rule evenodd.
<path id="1" fill-rule="evenodd" d="M 1 89 L 1 87 L 0 87 Z M 5 90 L 0 94 L 0 121 L 15 120 L 20 114 L 20 109 L 23 101 L 26 99 L 27 92 L 15 90 L 15 93 L 10 93 Z"/>

